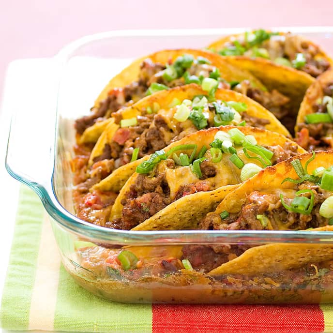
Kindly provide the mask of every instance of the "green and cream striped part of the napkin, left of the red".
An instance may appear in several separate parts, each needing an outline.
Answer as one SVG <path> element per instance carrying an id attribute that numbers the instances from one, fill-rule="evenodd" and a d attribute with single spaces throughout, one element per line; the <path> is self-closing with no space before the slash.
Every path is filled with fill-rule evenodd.
<path id="1" fill-rule="evenodd" d="M 56 248 L 49 225 L 40 199 L 22 186 L 3 289 L 1 327 L 8 330 L 151 332 L 150 304 L 109 302 L 75 283 L 62 267 L 57 251 L 48 249 Z M 47 238 L 48 246 L 40 246 L 43 238 Z M 43 265 L 39 259 L 42 254 L 49 257 L 49 262 Z M 54 265 L 57 260 L 59 265 Z M 40 286 L 35 283 L 36 277 L 41 275 L 39 271 L 48 274 L 47 281 L 39 281 Z M 52 279 L 58 283 L 54 284 Z M 46 290 L 43 295 L 38 295 L 39 287 Z"/>

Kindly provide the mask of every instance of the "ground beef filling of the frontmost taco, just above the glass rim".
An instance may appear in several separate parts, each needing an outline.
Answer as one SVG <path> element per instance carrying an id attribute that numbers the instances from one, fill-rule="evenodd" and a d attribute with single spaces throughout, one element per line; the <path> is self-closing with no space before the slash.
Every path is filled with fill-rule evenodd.
<path id="1" fill-rule="evenodd" d="M 231 213 L 223 220 L 219 214 L 210 213 L 200 222 L 200 228 L 205 230 L 303 230 L 326 226 L 328 219 L 319 215 L 319 208 L 330 193 L 310 182 L 304 182 L 298 188 L 298 190 L 303 189 L 311 190 L 315 196 L 314 207 L 309 215 L 288 211 L 281 204 L 278 195 L 254 191 L 246 198 L 241 212 Z M 310 194 L 304 193 L 302 196 L 310 197 Z M 288 205 L 291 201 L 292 199 L 285 198 Z M 268 226 L 263 226 L 257 219 L 257 215 L 262 214 L 268 218 Z"/>

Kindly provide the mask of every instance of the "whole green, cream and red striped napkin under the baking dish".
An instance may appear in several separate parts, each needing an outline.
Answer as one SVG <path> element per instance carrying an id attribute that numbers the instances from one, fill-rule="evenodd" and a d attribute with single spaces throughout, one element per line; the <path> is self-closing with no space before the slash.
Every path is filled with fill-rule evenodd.
<path id="1" fill-rule="evenodd" d="M 20 190 L 0 310 L 1 327 L 115 333 L 313 333 L 333 331 L 333 305 L 167 305 L 102 300 L 61 265 L 39 198 Z"/>

